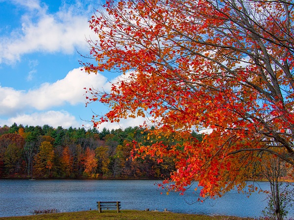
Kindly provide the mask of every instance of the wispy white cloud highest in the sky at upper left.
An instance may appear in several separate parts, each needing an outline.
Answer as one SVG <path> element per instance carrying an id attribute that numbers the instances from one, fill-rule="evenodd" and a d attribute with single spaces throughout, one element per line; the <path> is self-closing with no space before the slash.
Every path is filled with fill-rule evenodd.
<path id="1" fill-rule="evenodd" d="M 13 64 L 22 55 L 32 52 L 71 54 L 76 48 L 87 48 L 86 37 L 92 34 L 89 12 L 81 14 L 77 13 L 79 8 L 74 11 L 63 7 L 57 13 L 49 14 L 47 6 L 41 6 L 37 0 L 12 2 L 37 12 L 27 12 L 22 17 L 21 28 L 15 29 L 10 36 L 0 37 L 0 63 Z"/>

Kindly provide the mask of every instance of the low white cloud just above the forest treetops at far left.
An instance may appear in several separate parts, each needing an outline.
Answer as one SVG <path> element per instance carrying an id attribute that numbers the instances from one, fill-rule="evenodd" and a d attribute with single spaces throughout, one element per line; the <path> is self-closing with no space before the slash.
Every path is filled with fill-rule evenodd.
<path id="1" fill-rule="evenodd" d="M 53 128 L 62 126 L 63 128 L 69 128 L 73 126 L 74 128 L 81 127 L 81 123 L 77 122 L 75 117 L 67 111 L 46 111 L 46 112 L 34 112 L 32 114 L 20 114 L 15 117 L 11 117 L 8 120 L 1 120 L 1 125 L 10 126 L 13 123 L 29 125 L 29 126 L 43 126 L 49 125 Z"/>

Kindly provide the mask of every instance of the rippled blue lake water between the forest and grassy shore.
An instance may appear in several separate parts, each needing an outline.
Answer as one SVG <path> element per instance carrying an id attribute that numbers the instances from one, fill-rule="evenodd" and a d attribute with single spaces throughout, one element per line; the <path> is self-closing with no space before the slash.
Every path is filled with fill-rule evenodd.
<path id="1" fill-rule="evenodd" d="M 267 182 L 258 184 L 269 189 Z M 158 189 L 155 180 L 0 179 L 0 217 L 32 215 L 34 210 L 42 209 L 58 209 L 60 212 L 94 210 L 99 200 L 119 200 L 122 210 L 149 208 L 163 211 L 167 208 L 178 213 L 259 217 L 267 204 L 264 194 L 256 193 L 247 198 L 231 191 L 221 198 L 201 203 L 195 202 L 196 193 L 189 189 L 184 196 L 178 193 L 166 195 Z"/>

